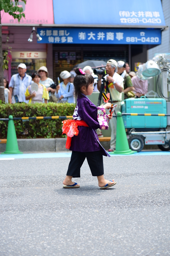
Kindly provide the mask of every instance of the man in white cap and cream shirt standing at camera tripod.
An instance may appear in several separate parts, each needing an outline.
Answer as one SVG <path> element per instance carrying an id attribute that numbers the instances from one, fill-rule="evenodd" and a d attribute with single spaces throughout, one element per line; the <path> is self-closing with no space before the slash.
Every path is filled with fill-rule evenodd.
<path id="1" fill-rule="evenodd" d="M 106 83 L 108 84 L 108 88 L 110 91 L 110 96 L 112 102 L 117 104 L 115 109 L 116 115 L 118 111 L 121 111 L 121 100 L 122 100 L 122 91 L 124 90 L 124 78 L 117 73 L 117 62 L 116 60 L 108 60 L 106 65 L 106 73 L 104 76 Z M 97 88 L 100 91 L 102 86 L 102 77 L 103 75 L 99 75 L 99 81 L 97 83 Z M 106 87 L 106 86 L 105 86 Z M 104 88 L 106 92 L 106 88 Z M 115 112 L 113 115 L 115 115 Z M 109 113 L 109 111 L 108 111 Z M 113 152 L 116 148 L 116 129 L 117 129 L 117 119 L 114 117 L 110 120 L 111 127 L 111 140 L 110 140 L 110 149 L 109 152 Z"/>

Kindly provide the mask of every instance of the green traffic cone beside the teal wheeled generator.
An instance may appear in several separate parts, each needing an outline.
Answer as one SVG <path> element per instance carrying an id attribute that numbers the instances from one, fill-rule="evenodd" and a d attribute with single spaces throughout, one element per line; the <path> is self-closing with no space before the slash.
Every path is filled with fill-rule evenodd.
<path id="1" fill-rule="evenodd" d="M 116 150 L 109 154 L 131 155 L 137 153 L 129 148 L 121 112 L 117 112 Z"/>

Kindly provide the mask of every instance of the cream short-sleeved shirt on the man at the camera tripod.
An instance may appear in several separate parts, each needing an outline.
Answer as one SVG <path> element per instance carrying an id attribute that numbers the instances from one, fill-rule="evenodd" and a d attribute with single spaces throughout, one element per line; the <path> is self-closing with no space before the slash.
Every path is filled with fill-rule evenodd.
<path id="1" fill-rule="evenodd" d="M 104 77 L 107 81 L 107 76 Z M 120 85 L 124 89 L 124 78 L 117 74 L 116 72 L 113 75 L 113 79 L 115 82 Z M 122 92 L 118 92 L 112 82 L 108 84 L 110 95 L 113 101 L 121 101 L 122 100 Z"/>

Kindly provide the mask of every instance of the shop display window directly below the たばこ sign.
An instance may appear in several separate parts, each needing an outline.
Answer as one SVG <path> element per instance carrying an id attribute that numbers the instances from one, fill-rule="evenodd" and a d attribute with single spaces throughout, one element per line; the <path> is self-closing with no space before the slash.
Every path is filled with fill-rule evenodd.
<path id="1" fill-rule="evenodd" d="M 27 75 L 32 76 L 41 66 L 46 66 L 46 59 L 12 59 L 11 62 L 11 76 L 18 73 L 19 63 L 24 63 L 27 67 Z"/>

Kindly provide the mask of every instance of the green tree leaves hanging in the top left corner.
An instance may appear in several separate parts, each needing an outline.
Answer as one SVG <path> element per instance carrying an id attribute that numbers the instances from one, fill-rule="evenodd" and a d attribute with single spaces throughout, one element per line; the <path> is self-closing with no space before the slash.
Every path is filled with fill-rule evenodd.
<path id="1" fill-rule="evenodd" d="M 20 0 L 20 2 L 24 2 L 25 0 Z M 15 5 L 13 5 L 15 2 Z M 4 10 L 4 12 L 8 12 L 14 19 L 18 19 L 18 22 L 21 20 L 22 17 L 25 18 L 25 14 L 23 13 L 23 8 L 18 7 L 19 0 L 0 0 L 0 10 Z M 19 12 L 19 13 L 18 13 Z"/>

